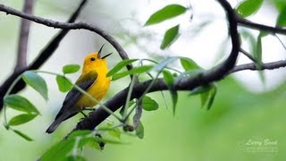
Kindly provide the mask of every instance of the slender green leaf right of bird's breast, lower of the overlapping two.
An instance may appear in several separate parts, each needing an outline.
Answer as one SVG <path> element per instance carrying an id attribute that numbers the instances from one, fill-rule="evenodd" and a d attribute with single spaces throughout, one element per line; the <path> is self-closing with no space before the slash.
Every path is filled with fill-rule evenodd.
<path id="1" fill-rule="evenodd" d="M 153 68 L 152 65 L 143 65 L 143 66 L 134 67 L 130 71 L 115 73 L 112 80 L 118 80 L 130 74 L 140 74 L 143 72 L 148 72 L 152 68 Z"/>

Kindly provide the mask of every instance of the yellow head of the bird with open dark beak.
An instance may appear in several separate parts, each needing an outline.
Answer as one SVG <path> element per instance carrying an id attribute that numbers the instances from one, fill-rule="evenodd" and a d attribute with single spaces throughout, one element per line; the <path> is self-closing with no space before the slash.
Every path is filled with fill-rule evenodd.
<path id="1" fill-rule="evenodd" d="M 98 52 L 91 53 L 85 57 L 82 69 L 83 72 L 89 72 L 96 69 L 107 69 L 107 62 L 105 58 L 112 55 L 112 53 L 102 56 L 101 51 L 104 46 L 105 45 L 100 47 Z"/>

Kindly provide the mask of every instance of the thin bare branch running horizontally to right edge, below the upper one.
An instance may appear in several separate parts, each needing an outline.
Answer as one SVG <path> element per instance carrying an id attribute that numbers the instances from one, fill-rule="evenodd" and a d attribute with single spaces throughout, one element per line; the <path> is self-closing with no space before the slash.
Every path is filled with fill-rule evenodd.
<path id="1" fill-rule="evenodd" d="M 262 64 L 260 68 L 257 68 L 257 64 L 241 64 L 241 65 L 235 66 L 229 72 L 229 74 L 231 74 L 233 72 L 240 72 L 240 71 L 245 71 L 245 70 L 263 71 L 263 70 L 278 69 L 278 68 L 282 68 L 282 67 L 286 67 L 286 60 Z"/>

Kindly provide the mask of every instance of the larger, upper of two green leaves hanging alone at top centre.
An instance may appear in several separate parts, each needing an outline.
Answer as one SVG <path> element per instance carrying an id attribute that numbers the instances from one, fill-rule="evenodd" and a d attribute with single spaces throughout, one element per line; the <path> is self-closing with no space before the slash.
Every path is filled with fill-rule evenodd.
<path id="1" fill-rule="evenodd" d="M 144 26 L 153 25 L 162 21 L 172 19 L 178 15 L 181 15 L 182 13 L 185 13 L 186 11 L 187 8 L 179 4 L 167 5 L 156 13 L 153 13 Z"/>

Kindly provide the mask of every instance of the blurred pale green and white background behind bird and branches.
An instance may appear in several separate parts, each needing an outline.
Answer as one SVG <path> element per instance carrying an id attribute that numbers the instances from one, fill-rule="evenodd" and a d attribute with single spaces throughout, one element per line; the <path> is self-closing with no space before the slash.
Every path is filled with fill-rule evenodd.
<path id="1" fill-rule="evenodd" d="M 166 1 L 163 4 L 170 2 Z M 179 3 L 179 1 L 175 2 Z M 213 1 L 209 2 L 214 3 Z M 0 3 L 21 10 L 22 2 L 20 1 L 0 0 Z M 39 0 L 35 5 L 35 14 L 55 21 L 65 21 L 78 3 L 79 1 L 76 0 L 63 0 L 61 2 Z M 194 2 L 194 4 L 196 3 Z M 156 28 L 150 30 L 142 28 L 148 15 L 164 6 L 162 4 L 154 5 L 149 1 L 133 2 L 128 0 L 88 2 L 83 13 L 80 14 L 80 21 L 88 21 L 108 30 L 126 47 L 130 57 L 150 58 L 150 55 L 153 55 L 151 58 L 160 59 L 166 55 L 185 55 L 193 58 L 192 55 L 195 55 L 197 57 L 194 60 L 206 68 L 210 68 L 217 63 L 219 58 L 223 57 L 221 53 L 216 51 L 214 51 L 216 55 L 207 53 L 207 43 L 212 43 L 208 41 L 199 41 L 202 47 L 195 47 L 196 50 L 192 52 L 187 51 L 188 47 L 186 47 L 185 52 L 178 52 L 183 51 L 184 48 L 180 50 L 178 49 L 180 45 L 175 46 L 175 44 L 173 48 L 167 51 L 160 51 L 160 41 L 158 41 L 160 33 L 156 33 L 158 34 L 158 38 L 156 38 L 156 34 L 152 35 L 153 32 L 150 31 Z M 149 10 L 150 8 L 154 10 Z M 272 15 L 272 13 L 269 14 Z M 223 20 L 223 17 L 218 18 L 218 21 Z M 19 18 L 7 16 L 4 13 L 0 13 L 0 21 L 0 80 L 2 82 L 13 72 L 14 61 L 12 60 L 15 59 L 17 51 L 20 21 Z M 189 24 L 186 25 L 182 31 L 192 30 L 188 26 Z M 225 24 L 223 25 L 225 26 Z M 38 55 L 38 52 L 55 35 L 56 31 L 32 23 L 29 39 L 29 62 Z M 187 33 L 187 36 L 182 36 L 180 42 L 183 44 L 190 37 L 192 35 L 189 36 Z M 199 36 L 193 35 L 193 37 L 195 40 L 199 40 Z M 147 40 L 150 42 L 148 43 Z M 214 42 L 212 44 L 218 49 L 222 42 L 219 41 L 216 44 Z M 64 64 L 81 64 L 81 60 L 88 52 L 97 50 L 103 43 L 105 40 L 91 32 L 71 30 L 68 36 L 63 39 L 55 55 L 46 62 L 42 69 L 61 72 Z M 278 44 L 277 41 L 275 43 Z M 227 47 L 225 50 L 227 51 Z M 114 52 L 114 49 L 107 44 L 105 52 L 109 53 L 109 51 Z M 118 61 L 118 55 L 113 55 L 109 58 L 109 66 L 112 67 Z M 180 68 L 179 65 L 178 68 Z M 270 72 L 266 72 L 265 86 L 261 85 L 257 72 L 240 72 L 236 77 L 230 76 L 219 81 L 217 96 L 214 99 L 212 109 L 209 111 L 200 107 L 199 97 L 189 97 L 188 92 L 180 92 L 177 112 L 173 115 L 168 91 L 164 92 L 168 108 L 166 108 L 164 99 L 159 95 L 159 92 L 149 94 L 156 99 L 160 107 L 155 112 L 143 112 L 141 120 L 145 128 L 143 140 L 122 134 L 121 141 L 126 144 L 108 144 L 104 151 L 85 148 L 83 156 L 87 157 L 88 160 L 116 161 L 285 160 L 286 157 L 283 152 L 286 149 L 284 137 L 286 132 L 284 125 L 286 122 L 286 117 L 284 117 L 286 112 L 284 76 L 286 72 L 281 69 L 271 71 L 271 73 L 275 73 L 276 77 L 267 75 Z M 79 74 L 79 72 L 73 74 L 71 79 L 75 80 Z M 253 75 L 256 79 L 249 80 Z M 47 103 L 30 88 L 20 92 L 22 96 L 28 97 L 31 102 L 38 106 L 42 115 L 30 123 L 15 127 L 15 129 L 29 134 L 34 141 L 22 140 L 12 131 L 6 131 L 3 126 L 0 126 L 0 160 L 36 160 L 46 149 L 61 140 L 68 131 L 71 131 L 80 119 L 79 115 L 64 122 L 54 134 L 45 133 L 46 128 L 57 114 L 65 94 L 58 91 L 53 76 L 43 76 L 48 81 L 49 101 Z M 240 79 L 238 80 L 237 77 Z M 241 81 L 241 79 L 248 80 L 248 82 Z M 112 97 L 117 91 L 126 87 L 126 82 L 128 79 L 114 81 L 105 99 Z M 272 83 L 274 85 L 269 85 Z M 256 88 L 251 89 L 251 86 Z M 9 118 L 15 114 L 12 110 L 8 111 Z M 1 122 L 3 120 L 3 114 L 1 114 Z M 267 144 L 269 141 L 272 143 Z"/>

